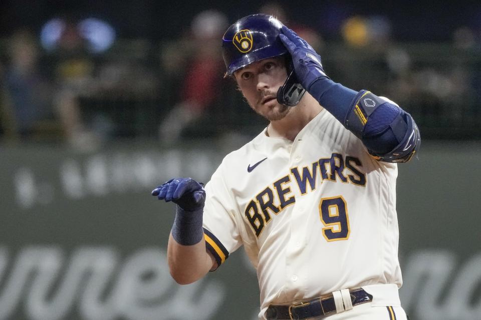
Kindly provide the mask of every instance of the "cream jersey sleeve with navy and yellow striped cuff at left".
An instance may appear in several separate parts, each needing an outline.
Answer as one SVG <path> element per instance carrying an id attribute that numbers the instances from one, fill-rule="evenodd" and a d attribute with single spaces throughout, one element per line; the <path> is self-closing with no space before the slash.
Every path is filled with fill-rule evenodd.
<path id="1" fill-rule="evenodd" d="M 217 168 L 205 185 L 205 194 L 205 245 L 217 261 L 217 266 L 220 266 L 230 253 L 242 245 L 235 220 L 235 215 L 238 214 L 237 204 L 225 185 L 221 167 Z"/>

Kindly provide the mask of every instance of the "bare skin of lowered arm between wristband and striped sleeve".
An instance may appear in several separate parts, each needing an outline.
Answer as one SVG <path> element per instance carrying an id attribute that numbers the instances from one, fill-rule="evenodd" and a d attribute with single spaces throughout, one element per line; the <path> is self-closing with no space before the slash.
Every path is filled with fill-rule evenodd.
<path id="1" fill-rule="evenodd" d="M 188 284 L 202 278 L 215 267 L 213 256 L 205 248 L 205 240 L 193 245 L 179 244 L 169 236 L 167 259 L 170 274 L 179 284 Z"/>

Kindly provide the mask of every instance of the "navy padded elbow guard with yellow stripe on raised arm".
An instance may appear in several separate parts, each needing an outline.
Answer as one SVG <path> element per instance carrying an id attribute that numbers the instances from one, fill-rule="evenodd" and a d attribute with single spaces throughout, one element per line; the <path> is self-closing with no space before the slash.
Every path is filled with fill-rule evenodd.
<path id="1" fill-rule="evenodd" d="M 356 96 L 344 125 L 379 161 L 408 162 L 419 149 L 421 137 L 411 115 L 369 91 Z"/>

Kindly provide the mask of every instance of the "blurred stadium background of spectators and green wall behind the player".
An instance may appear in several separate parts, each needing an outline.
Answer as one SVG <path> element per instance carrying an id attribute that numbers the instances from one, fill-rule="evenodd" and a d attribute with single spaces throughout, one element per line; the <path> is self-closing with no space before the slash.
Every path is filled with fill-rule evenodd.
<path id="1" fill-rule="evenodd" d="M 481 319 L 479 2 L 154 0 L 0 2 L 0 319 L 256 318 L 242 249 L 173 282 L 173 207 L 150 196 L 173 176 L 208 181 L 266 125 L 219 54 L 256 12 L 305 37 L 333 80 L 416 119 L 401 300 L 412 320 Z"/>

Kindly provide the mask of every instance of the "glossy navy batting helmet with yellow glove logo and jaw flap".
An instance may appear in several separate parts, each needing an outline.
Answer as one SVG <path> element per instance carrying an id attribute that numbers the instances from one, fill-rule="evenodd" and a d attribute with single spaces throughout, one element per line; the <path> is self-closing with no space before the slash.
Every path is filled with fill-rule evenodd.
<path id="1" fill-rule="evenodd" d="M 222 37 L 222 58 L 227 69 L 225 77 L 253 62 L 288 54 L 279 37 L 282 26 L 276 18 L 263 14 L 244 17 L 230 26 Z M 288 57 L 288 77 L 277 92 L 277 100 L 292 107 L 299 103 L 305 90 Z"/>

